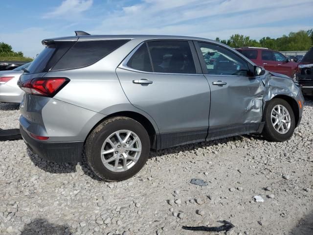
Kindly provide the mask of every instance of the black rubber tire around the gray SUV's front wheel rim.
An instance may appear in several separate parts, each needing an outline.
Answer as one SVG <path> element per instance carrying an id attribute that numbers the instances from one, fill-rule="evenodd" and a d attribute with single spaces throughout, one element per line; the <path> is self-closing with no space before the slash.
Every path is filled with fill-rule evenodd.
<path id="1" fill-rule="evenodd" d="M 288 110 L 290 117 L 291 117 L 290 129 L 285 134 L 278 133 L 273 127 L 273 124 L 271 121 L 271 111 L 278 104 L 283 105 Z M 294 118 L 292 108 L 286 100 L 275 98 L 269 101 L 269 103 L 266 105 L 264 121 L 265 121 L 265 127 L 264 127 L 265 133 L 264 134 L 270 141 L 287 141 L 291 138 L 294 128 L 295 128 L 295 118 Z"/>

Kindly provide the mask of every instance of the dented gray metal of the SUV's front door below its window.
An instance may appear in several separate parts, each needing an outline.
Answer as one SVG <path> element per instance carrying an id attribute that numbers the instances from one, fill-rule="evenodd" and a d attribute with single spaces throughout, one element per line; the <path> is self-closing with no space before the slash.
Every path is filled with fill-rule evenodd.
<path id="1" fill-rule="evenodd" d="M 264 85 L 260 78 L 205 75 L 211 87 L 209 129 L 259 123 L 263 114 Z M 214 85 L 223 81 L 224 86 Z"/>

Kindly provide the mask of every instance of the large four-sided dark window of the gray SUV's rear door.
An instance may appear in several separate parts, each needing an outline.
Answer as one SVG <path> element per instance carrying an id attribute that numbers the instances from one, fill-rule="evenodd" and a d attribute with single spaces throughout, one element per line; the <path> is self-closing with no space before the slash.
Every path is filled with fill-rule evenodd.
<path id="1" fill-rule="evenodd" d="M 148 47 L 154 72 L 196 73 L 188 42 L 152 41 Z"/>

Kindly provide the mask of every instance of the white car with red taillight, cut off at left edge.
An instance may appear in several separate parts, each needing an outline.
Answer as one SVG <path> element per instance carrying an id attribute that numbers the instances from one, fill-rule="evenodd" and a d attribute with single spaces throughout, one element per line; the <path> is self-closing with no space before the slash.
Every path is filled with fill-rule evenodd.
<path id="1" fill-rule="evenodd" d="M 12 71 L 0 71 L 0 102 L 21 103 L 24 92 L 17 85 L 22 69 L 26 69 L 31 62 Z"/>

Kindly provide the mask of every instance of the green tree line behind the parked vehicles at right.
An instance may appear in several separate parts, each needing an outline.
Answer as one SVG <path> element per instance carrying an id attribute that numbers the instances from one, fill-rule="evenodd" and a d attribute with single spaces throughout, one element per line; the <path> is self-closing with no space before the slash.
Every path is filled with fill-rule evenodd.
<path id="1" fill-rule="evenodd" d="M 278 51 L 309 50 L 313 47 L 313 29 L 291 32 L 280 38 L 263 37 L 259 41 L 250 39 L 249 36 L 240 34 L 231 35 L 227 40 L 215 39 L 218 42 L 227 44 L 230 47 L 266 47 Z"/>

